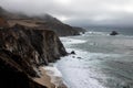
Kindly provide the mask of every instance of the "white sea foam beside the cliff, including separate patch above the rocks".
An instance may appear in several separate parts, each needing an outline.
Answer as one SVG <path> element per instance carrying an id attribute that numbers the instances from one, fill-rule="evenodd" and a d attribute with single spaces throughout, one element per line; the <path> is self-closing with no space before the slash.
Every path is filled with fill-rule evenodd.
<path id="1" fill-rule="evenodd" d="M 85 43 L 86 41 L 61 37 L 63 44 Z M 102 81 L 106 76 L 100 69 L 100 63 L 109 57 L 119 57 L 117 54 L 90 53 L 78 48 L 66 48 L 68 52 L 74 51 L 75 55 L 62 57 L 57 63 L 57 67 L 62 73 L 64 81 L 70 88 L 106 88 Z"/>

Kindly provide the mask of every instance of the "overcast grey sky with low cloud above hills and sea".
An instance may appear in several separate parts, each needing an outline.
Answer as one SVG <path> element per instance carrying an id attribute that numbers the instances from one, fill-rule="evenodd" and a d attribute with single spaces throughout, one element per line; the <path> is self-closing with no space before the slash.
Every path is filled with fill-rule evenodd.
<path id="1" fill-rule="evenodd" d="M 72 25 L 133 25 L 133 0 L 0 0 L 7 10 L 49 13 Z"/>

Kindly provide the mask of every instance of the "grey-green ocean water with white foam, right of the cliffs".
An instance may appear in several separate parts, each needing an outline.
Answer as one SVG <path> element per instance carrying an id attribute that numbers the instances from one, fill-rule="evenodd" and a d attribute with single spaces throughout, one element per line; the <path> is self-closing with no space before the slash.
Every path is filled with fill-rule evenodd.
<path id="1" fill-rule="evenodd" d="M 55 67 L 69 88 L 133 88 L 133 36 L 86 32 L 61 37 L 68 52 Z"/>

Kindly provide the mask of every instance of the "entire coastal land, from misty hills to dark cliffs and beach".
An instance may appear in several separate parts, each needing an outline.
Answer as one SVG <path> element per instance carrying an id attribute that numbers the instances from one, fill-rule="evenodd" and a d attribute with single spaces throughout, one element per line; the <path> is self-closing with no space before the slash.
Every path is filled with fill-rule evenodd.
<path id="1" fill-rule="evenodd" d="M 84 30 L 49 14 L 27 16 L 0 7 L 0 87 L 66 88 L 61 77 L 55 76 L 57 81 L 52 82 L 42 67 L 68 55 L 59 35 L 80 32 Z"/>

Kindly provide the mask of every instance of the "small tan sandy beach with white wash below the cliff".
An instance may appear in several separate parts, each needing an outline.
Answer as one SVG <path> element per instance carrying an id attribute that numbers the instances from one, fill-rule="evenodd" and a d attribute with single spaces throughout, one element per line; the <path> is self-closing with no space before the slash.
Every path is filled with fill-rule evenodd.
<path id="1" fill-rule="evenodd" d="M 33 78 L 33 80 L 40 85 L 47 86 L 48 88 L 68 88 L 63 82 L 61 76 L 54 75 L 54 70 L 49 69 L 49 66 L 40 67 L 41 77 Z"/>

